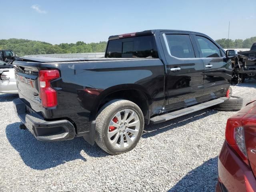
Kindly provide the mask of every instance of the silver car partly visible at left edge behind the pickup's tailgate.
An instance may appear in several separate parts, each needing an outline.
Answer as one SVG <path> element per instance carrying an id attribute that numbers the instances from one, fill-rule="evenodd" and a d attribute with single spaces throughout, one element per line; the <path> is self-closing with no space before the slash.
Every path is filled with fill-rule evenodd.
<path id="1" fill-rule="evenodd" d="M 14 67 L 3 61 L 0 61 L 0 66 L 0 93 L 18 94 Z"/>

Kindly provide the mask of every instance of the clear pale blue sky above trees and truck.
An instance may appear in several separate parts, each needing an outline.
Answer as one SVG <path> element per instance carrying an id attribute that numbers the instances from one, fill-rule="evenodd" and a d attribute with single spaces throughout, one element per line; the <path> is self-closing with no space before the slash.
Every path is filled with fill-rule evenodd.
<path id="1" fill-rule="evenodd" d="M 214 40 L 256 36 L 256 0 L 0 0 L 0 39 L 51 44 L 107 41 L 149 29 L 191 30 Z"/>

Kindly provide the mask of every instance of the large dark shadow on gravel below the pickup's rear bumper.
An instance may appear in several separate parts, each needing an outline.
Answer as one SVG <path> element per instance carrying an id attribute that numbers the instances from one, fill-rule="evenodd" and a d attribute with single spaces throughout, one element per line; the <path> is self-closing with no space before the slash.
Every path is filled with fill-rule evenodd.
<path id="1" fill-rule="evenodd" d="M 24 163 L 33 169 L 45 170 L 76 159 L 86 161 L 80 154 L 82 150 L 88 156 L 108 156 L 96 144 L 91 146 L 82 137 L 68 141 L 41 142 L 28 130 L 20 130 L 19 125 L 20 122 L 16 122 L 6 126 L 6 137 Z"/>

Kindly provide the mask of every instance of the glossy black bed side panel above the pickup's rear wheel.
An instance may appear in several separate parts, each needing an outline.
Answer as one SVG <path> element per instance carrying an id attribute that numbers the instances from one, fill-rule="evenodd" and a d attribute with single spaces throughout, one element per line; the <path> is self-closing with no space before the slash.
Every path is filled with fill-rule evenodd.
<path id="1" fill-rule="evenodd" d="M 58 106 L 47 118 L 70 118 L 78 132 L 89 130 L 100 101 L 126 89 L 142 91 L 150 110 L 164 103 L 164 65 L 160 59 L 88 61 L 45 64 L 60 70 L 52 86 L 58 90 Z M 154 103 L 153 103 L 154 102 Z"/>

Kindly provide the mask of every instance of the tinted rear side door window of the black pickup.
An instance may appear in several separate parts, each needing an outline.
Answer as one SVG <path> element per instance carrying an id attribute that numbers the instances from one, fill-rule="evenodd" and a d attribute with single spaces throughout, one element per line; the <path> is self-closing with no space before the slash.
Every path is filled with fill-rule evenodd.
<path id="1" fill-rule="evenodd" d="M 172 56 L 177 58 L 195 58 L 193 45 L 189 35 L 166 34 L 166 39 Z"/>

